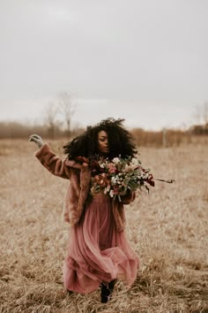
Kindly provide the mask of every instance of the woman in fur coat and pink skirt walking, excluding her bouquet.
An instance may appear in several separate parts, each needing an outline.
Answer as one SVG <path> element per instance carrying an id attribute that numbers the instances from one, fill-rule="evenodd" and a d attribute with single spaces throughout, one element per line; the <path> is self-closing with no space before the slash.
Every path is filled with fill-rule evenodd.
<path id="1" fill-rule="evenodd" d="M 63 216 L 71 224 L 68 254 L 63 265 L 66 290 L 88 294 L 101 286 L 101 302 L 108 302 L 115 279 L 130 286 L 137 277 L 138 258 L 124 233 L 123 204 L 132 202 L 135 194 L 122 195 L 122 201 L 103 193 L 91 193 L 93 171 L 85 162 L 93 156 L 113 159 L 135 156 L 137 149 L 123 119 L 108 118 L 63 146 L 68 156 L 62 160 L 43 144 L 41 137 L 31 135 L 40 148 L 35 156 L 49 172 L 70 179 L 63 202 Z"/>

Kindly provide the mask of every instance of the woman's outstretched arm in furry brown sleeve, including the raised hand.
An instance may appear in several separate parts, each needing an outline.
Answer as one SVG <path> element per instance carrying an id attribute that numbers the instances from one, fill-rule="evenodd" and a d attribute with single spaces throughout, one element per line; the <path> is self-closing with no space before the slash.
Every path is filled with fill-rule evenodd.
<path id="1" fill-rule="evenodd" d="M 34 141 L 39 147 L 35 156 L 49 172 L 63 179 L 70 179 L 70 168 L 66 166 L 65 161 L 60 156 L 56 156 L 48 146 L 48 143 L 43 143 L 38 135 L 30 136 L 29 141 Z"/>

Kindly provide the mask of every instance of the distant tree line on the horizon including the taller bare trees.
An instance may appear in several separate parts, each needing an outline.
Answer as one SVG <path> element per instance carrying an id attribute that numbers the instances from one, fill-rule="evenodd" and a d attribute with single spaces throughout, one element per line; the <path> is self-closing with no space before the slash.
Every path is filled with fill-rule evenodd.
<path id="1" fill-rule="evenodd" d="M 40 125 L 26 125 L 19 122 L 0 121 L 0 139 L 24 139 L 31 134 L 40 134 L 45 139 L 71 138 L 81 134 L 82 127 L 71 127 L 71 119 L 76 105 L 71 95 L 66 92 L 57 95 L 56 102 L 48 103 L 45 110 L 44 121 Z M 62 122 L 60 121 L 62 117 Z M 197 107 L 195 112 L 197 125 L 190 126 L 188 130 L 175 130 L 164 128 L 161 131 L 145 131 L 142 128 L 131 129 L 131 133 L 138 146 L 169 147 L 179 146 L 181 143 L 191 142 L 192 136 L 208 135 L 208 102 Z"/>

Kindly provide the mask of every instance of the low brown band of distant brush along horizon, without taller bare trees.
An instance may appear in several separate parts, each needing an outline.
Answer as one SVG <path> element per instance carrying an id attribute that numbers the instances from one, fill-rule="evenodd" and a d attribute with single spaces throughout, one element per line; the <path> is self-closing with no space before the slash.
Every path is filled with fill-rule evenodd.
<path id="1" fill-rule="evenodd" d="M 46 125 L 23 125 L 18 122 L 0 122 L 0 139 L 27 139 L 31 134 L 40 134 L 44 139 L 56 140 L 65 138 L 66 140 L 71 140 L 84 131 L 85 129 L 82 127 L 75 127 L 71 129 L 69 135 L 67 128 L 63 129 L 63 127 L 58 125 L 54 126 L 53 132 L 51 132 L 51 128 Z M 179 146 L 183 142 L 191 142 L 191 137 L 194 135 L 208 134 L 204 131 L 201 132 L 201 128 L 198 128 L 198 126 L 191 126 L 187 131 L 163 129 L 153 132 L 146 131 L 142 128 L 133 128 L 130 131 L 136 139 L 138 146 L 150 147 Z"/>

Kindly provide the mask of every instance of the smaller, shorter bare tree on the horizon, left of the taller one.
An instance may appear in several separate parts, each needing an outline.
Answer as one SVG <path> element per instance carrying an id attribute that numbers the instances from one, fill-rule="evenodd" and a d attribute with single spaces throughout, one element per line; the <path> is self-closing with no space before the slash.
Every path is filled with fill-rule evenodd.
<path id="1" fill-rule="evenodd" d="M 48 126 L 48 134 L 49 136 L 54 139 L 55 138 L 55 130 L 57 126 L 57 107 L 56 104 L 53 102 L 49 102 L 46 109 L 45 109 L 45 122 Z"/>

